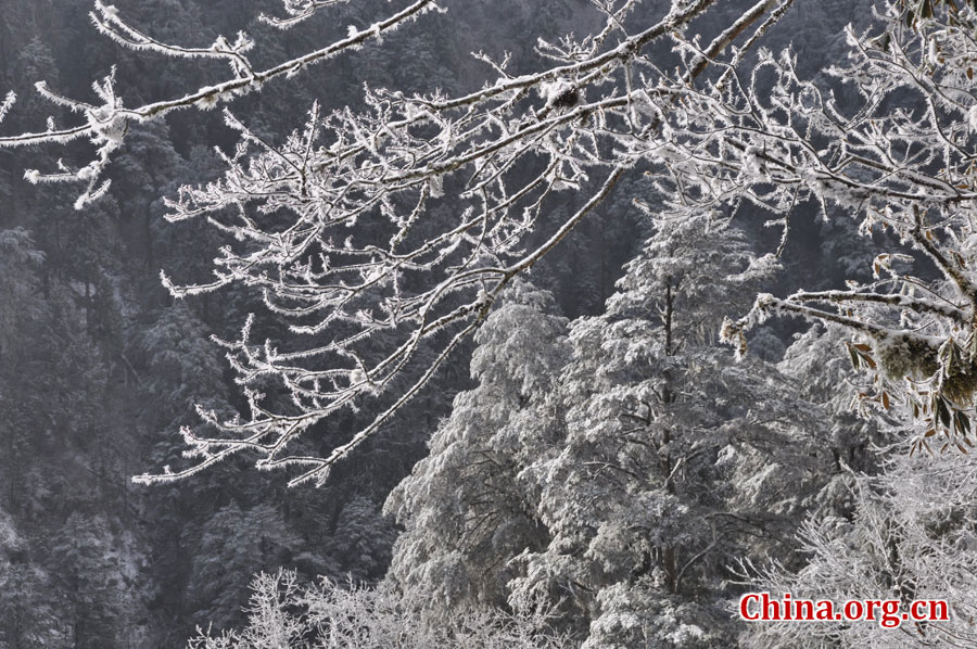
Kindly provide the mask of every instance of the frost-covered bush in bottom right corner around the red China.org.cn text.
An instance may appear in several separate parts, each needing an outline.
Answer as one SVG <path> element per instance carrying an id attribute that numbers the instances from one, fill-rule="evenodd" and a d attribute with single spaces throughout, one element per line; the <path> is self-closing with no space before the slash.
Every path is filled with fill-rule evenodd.
<path id="1" fill-rule="evenodd" d="M 799 570 L 774 563 L 743 565 L 750 589 L 772 595 L 803 593 L 811 599 L 889 598 L 909 606 L 915 599 L 942 599 L 949 619 L 925 623 L 890 620 L 879 624 L 814 622 L 799 634 L 790 623 L 756 625 L 745 647 L 800 649 L 824 647 L 974 647 L 970 620 L 977 607 L 977 555 L 974 552 L 973 456 L 937 457 L 926 465 L 905 454 L 883 475 L 847 479 L 854 516 L 808 521 L 801 529 Z M 898 615 L 898 612 L 897 612 Z M 898 638 L 898 639 L 897 639 Z"/>

